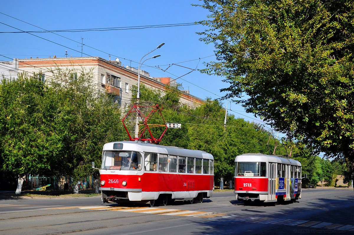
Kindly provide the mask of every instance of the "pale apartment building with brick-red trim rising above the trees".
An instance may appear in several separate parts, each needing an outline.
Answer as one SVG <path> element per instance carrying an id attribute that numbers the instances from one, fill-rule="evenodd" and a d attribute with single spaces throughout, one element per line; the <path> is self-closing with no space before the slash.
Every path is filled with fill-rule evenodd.
<path id="1" fill-rule="evenodd" d="M 75 79 L 80 71 L 92 69 L 94 77 L 92 83 L 97 84 L 100 91 L 112 94 L 114 102 L 122 108 L 130 105 L 132 85 L 137 85 L 138 70 L 130 66 L 123 67 L 119 60 L 108 61 L 100 57 L 70 57 L 70 58 L 29 58 L 18 60 L 19 72 L 40 73 L 40 78 L 46 81 L 53 77 L 57 68 L 68 69 L 70 77 Z M 167 84 L 176 83 L 172 78 L 154 78 L 146 71 L 140 72 L 140 83 L 149 88 L 164 91 Z M 196 96 L 190 95 L 188 90 L 181 90 L 180 102 L 189 107 L 196 107 L 203 103 Z"/>

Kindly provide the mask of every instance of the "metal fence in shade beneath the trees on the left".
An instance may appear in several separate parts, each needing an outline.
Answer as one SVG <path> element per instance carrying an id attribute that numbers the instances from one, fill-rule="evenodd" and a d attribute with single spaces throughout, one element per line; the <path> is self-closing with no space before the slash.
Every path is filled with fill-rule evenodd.
<path id="1" fill-rule="evenodd" d="M 23 182 L 22 190 L 64 190 L 64 186 L 67 185 L 68 189 L 72 190 L 75 184 L 79 184 L 80 189 L 94 189 L 95 179 L 93 176 L 87 176 L 80 181 L 73 181 L 72 177 L 41 177 L 39 175 L 26 178 Z"/>

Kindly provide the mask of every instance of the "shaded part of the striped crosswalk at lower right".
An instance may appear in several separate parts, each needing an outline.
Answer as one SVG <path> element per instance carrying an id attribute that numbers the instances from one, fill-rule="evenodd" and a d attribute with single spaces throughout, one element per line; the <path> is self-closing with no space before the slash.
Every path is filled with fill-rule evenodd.
<path id="1" fill-rule="evenodd" d="M 351 224 L 333 224 L 329 222 L 311 221 L 311 220 L 297 220 L 297 219 L 279 219 L 261 216 L 244 216 L 244 215 L 225 215 L 223 213 L 216 213 L 212 216 L 201 216 L 209 220 L 214 220 L 222 223 L 233 222 L 249 222 L 249 223 L 261 223 L 261 224 L 281 224 L 288 226 L 301 226 L 307 228 L 317 228 L 326 230 L 341 230 L 341 231 L 354 231 L 354 225 Z"/>

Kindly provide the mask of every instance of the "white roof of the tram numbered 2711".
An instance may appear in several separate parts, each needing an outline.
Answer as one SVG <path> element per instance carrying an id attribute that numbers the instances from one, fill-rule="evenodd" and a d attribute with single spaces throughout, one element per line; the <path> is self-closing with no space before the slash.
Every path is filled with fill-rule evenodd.
<path id="1" fill-rule="evenodd" d="M 263 153 L 245 153 L 235 157 L 235 162 L 274 162 L 301 166 L 299 161 L 287 157 L 267 155 Z"/>

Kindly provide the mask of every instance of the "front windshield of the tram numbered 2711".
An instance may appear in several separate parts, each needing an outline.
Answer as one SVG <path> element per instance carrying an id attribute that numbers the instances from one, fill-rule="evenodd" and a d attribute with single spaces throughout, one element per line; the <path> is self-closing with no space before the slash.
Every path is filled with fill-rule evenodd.
<path id="1" fill-rule="evenodd" d="M 236 162 L 235 165 L 236 176 L 267 176 L 267 164 L 265 162 Z"/>

